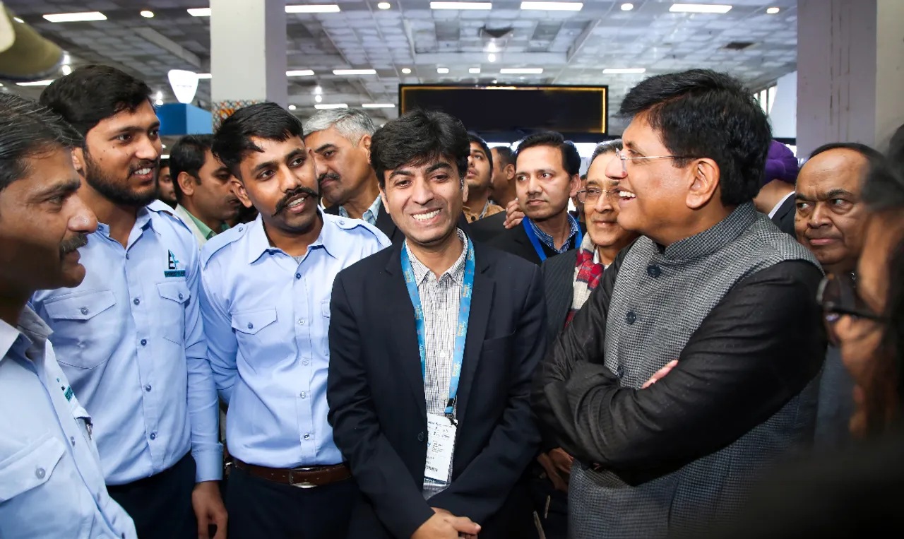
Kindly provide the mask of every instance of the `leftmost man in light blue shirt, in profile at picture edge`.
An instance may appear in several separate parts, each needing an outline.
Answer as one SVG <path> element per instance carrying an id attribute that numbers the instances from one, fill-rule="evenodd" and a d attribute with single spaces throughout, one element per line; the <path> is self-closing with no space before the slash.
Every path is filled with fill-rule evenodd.
<path id="1" fill-rule="evenodd" d="M 98 222 L 76 191 L 79 134 L 51 111 L 0 95 L 0 537 L 134 539 L 107 493 L 91 417 L 25 306 L 85 277 L 79 247 Z"/>

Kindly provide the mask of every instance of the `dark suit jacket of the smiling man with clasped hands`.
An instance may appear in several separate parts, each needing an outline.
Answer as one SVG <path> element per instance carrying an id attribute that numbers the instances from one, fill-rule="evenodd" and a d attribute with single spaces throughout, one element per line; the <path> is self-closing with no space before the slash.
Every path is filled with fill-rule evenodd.
<path id="1" fill-rule="evenodd" d="M 531 509 L 525 503 L 521 518 L 512 518 L 511 500 L 523 494 L 513 487 L 540 440 L 529 397 L 546 348 L 540 269 L 475 245 L 452 483 L 425 501 L 427 411 L 401 248 L 373 254 L 334 281 L 329 421 L 366 498 L 349 537 L 408 539 L 433 515 L 431 506 L 471 518 L 482 539 L 520 537 L 514 525 L 529 529 Z"/>

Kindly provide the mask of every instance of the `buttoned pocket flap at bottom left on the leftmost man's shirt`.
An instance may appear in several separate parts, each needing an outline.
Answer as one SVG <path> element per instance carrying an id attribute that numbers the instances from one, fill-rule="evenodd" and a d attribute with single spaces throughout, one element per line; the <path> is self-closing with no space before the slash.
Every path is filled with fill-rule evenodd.
<path id="1" fill-rule="evenodd" d="M 48 433 L 0 463 L 0 504 L 46 483 L 65 451 L 63 443 Z"/>

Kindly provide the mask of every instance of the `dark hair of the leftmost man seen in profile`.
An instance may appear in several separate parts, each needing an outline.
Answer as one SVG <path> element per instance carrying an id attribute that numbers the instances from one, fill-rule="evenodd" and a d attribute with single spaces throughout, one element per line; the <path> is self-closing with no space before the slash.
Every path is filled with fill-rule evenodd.
<path id="1" fill-rule="evenodd" d="M 0 94 L 0 191 L 29 175 L 28 159 L 81 144 L 81 136 L 31 99 Z"/>

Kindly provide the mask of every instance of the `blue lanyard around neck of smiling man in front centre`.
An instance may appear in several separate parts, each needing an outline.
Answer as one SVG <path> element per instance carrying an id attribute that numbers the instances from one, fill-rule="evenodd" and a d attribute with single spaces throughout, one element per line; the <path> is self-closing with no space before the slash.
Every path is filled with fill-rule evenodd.
<path id="1" fill-rule="evenodd" d="M 452 419 L 458 396 L 458 379 L 461 377 L 461 364 L 465 359 L 465 338 L 467 336 L 467 319 L 471 314 L 471 289 L 474 288 L 474 244 L 467 240 L 467 256 L 465 259 L 465 283 L 461 288 L 461 301 L 458 304 L 458 323 L 455 334 L 455 352 L 452 355 L 452 375 L 449 377 L 449 394 L 446 403 L 446 415 Z M 424 309 L 420 305 L 418 284 L 414 282 L 414 270 L 408 258 L 408 249 L 402 246 L 401 269 L 405 275 L 405 286 L 414 307 L 414 322 L 418 329 L 418 351 L 420 353 L 420 376 L 427 376 L 427 344 L 424 336 Z"/>

